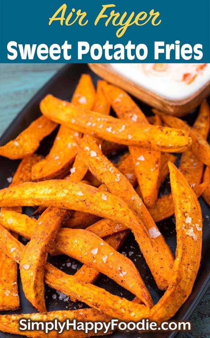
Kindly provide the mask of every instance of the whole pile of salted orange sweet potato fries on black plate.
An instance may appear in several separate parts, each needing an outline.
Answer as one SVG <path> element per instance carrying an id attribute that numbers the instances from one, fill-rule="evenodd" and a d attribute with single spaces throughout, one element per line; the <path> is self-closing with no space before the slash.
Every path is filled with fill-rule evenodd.
<path id="1" fill-rule="evenodd" d="M 110 109 L 116 117 L 110 116 Z M 39 313 L 0 315 L 0 330 L 28 337 L 19 320 L 139 321 L 171 318 L 192 291 L 202 248 L 202 213 L 197 197 L 210 204 L 210 110 L 206 101 L 189 126 L 153 110 L 146 117 L 120 88 L 83 74 L 71 103 L 47 95 L 41 117 L 0 155 L 22 159 L 8 188 L 0 190 L 0 310 L 20 307 L 17 269 L 25 297 Z M 49 154 L 36 154 L 43 138 L 61 124 Z M 126 149 L 117 164 L 108 155 Z M 179 169 L 174 165 L 182 153 Z M 107 157 L 108 156 L 108 157 Z M 206 165 L 206 168 L 204 168 Z M 170 171 L 171 194 L 158 198 Z M 22 213 L 37 207 L 40 217 Z M 173 256 L 155 222 L 175 214 L 177 248 Z M 156 305 L 141 271 L 117 250 L 133 232 L 160 290 Z M 23 245 L 19 236 L 29 241 Z M 84 265 L 69 275 L 47 262 L 65 254 Z M 134 296 L 130 301 L 93 285 L 100 273 Z M 44 283 L 90 308 L 46 312 Z M 95 335 L 94 332 L 91 335 Z M 65 331 L 59 337 L 85 337 Z M 50 337 L 57 337 L 51 332 Z"/>

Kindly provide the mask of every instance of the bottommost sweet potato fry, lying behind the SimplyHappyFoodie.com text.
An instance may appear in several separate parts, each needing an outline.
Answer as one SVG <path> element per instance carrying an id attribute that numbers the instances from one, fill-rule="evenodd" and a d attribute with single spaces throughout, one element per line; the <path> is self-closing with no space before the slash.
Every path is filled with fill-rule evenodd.
<path id="1" fill-rule="evenodd" d="M 13 333 L 16 335 L 23 335 L 27 337 L 35 337 L 35 338 L 85 338 L 87 334 L 81 331 L 73 331 L 73 330 L 64 330 L 61 334 L 58 334 L 57 331 L 49 331 L 49 333 L 44 333 L 44 331 L 32 331 L 25 330 L 20 331 L 20 320 L 21 319 L 30 319 L 36 322 L 45 322 L 45 321 L 54 321 L 55 319 L 60 322 L 64 322 L 67 319 L 72 321 L 76 319 L 77 321 L 105 321 L 108 322 L 110 318 L 95 310 L 95 309 L 80 309 L 80 310 L 72 310 L 72 311 L 52 311 L 46 313 L 29 313 L 29 314 L 21 314 L 21 315 L 1 315 L 0 316 L 0 331 Z M 109 332 L 110 333 L 110 332 Z M 96 336 L 93 331 L 90 331 L 91 336 Z"/>

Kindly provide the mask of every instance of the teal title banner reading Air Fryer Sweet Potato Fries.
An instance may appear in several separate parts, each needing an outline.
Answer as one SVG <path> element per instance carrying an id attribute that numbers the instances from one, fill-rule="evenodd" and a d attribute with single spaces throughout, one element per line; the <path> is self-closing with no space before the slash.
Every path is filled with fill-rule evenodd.
<path id="1" fill-rule="evenodd" d="M 209 63 L 210 1 L 0 1 L 1 63 Z"/>

